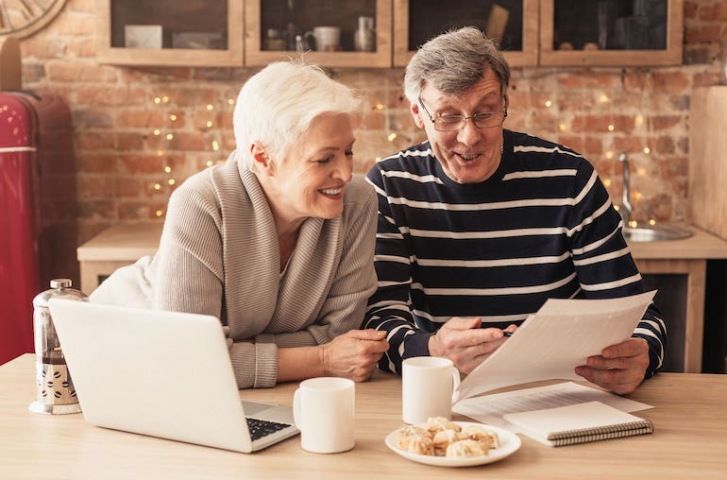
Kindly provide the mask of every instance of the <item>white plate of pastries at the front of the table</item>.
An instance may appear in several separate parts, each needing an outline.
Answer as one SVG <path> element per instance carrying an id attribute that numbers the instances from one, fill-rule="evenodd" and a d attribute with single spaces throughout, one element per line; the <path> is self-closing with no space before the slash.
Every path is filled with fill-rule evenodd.
<path id="1" fill-rule="evenodd" d="M 496 462 L 520 448 L 520 437 L 503 428 L 432 417 L 389 433 L 386 446 L 414 462 L 471 467 Z"/>

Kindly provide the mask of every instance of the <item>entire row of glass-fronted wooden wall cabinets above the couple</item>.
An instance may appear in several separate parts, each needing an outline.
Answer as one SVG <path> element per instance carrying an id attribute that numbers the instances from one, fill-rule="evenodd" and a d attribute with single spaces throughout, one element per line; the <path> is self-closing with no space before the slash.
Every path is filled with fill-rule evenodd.
<path id="1" fill-rule="evenodd" d="M 316 26 L 334 26 L 340 28 L 340 49 L 303 46 L 307 62 L 403 67 L 421 44 L 465 25 L 498 38 L 512 67 L 682 62 L 683 0 L 96 0 L 96 5 L 97 59 L 118 65 L 261 67 L 299 57 L 296 35 L 306 39 Z M 359 17 L 373 21 L 372 51 L 355 48 Z"/>

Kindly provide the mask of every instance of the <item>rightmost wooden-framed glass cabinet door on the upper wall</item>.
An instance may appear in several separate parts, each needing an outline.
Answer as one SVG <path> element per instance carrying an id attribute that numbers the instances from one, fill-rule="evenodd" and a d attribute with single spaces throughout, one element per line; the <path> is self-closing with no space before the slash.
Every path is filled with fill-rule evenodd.
<path id="1" fill-rule="evenodd" d="M 540 64 L 682 63 L 682 0 L 542 0 Z"/>

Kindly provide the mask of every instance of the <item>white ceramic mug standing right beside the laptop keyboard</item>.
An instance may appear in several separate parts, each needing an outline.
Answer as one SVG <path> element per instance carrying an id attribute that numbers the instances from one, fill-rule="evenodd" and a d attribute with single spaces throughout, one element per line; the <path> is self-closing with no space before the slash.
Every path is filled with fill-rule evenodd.
<path id="1" fill-rule="evenodd" d="M 314 453 L 351 450 L 355 443 L 355 383 L 347 378 L 304 380 L 293 397 L 300 445 Z"/>

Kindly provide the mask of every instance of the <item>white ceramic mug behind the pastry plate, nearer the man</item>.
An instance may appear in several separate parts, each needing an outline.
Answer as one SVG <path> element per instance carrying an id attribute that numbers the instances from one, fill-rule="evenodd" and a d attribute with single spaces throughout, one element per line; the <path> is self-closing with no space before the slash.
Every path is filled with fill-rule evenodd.
<path id="1" fill-rule="evenodd" d="M 430 417 L 452 418 L 459 370 L 448 358 L 411 357 L 402 363 L 402 416 L 409 424 Z"/>

